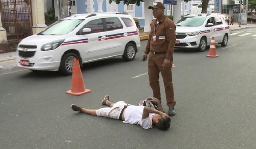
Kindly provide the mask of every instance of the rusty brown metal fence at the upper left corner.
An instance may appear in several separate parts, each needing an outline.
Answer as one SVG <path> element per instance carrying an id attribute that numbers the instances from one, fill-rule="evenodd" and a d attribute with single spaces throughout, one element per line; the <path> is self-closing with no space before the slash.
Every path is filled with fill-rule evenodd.
<path id="1" fill-rule="evenodd" d="M 9 43 L 32 34 L 31 0 L 0 0 L 0 11 Z"/>

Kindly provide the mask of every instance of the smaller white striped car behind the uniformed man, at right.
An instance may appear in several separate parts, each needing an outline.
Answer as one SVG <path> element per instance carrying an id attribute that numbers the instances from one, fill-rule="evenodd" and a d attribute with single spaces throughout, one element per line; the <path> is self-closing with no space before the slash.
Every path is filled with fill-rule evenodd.
<path id="1" fill-rule="evenodd" d="M 215 43 L 227 46 L 230 30 L 223 14 L 189 14 L 175 24 L 177 48 L 198 48 L 203 52 L 211 44 L 212 36 Z"/>

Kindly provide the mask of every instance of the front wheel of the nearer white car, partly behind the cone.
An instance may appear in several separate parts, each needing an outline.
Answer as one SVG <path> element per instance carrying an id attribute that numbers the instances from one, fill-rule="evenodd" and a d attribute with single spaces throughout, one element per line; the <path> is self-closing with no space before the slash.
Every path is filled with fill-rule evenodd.
<path id="1" fill-rule="evenodd" d="M 73 72 L 73 60 L 79 58 L 75 53 L 66 53 L 61 58 L 60 72 L 64 75 L 72 75 Z M 80 60 L 79 60 L 80 62 Z M 81 63 L 80 63 L 81 67 Z"/>

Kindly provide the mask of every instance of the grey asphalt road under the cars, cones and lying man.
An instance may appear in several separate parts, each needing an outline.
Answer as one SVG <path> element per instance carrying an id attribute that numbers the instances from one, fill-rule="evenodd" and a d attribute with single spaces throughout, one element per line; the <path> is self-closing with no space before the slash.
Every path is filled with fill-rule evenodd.
<path id="1" fill-rule="evenodd" d="M 239 36 L 245 31 L 251 34 Z M 79 97 L 65 94 L 71 76 L 22 69 L 1 73 L 0 149 L 255 149 L 256 28 L 236 32 L 225 49 L 217 45 L 217 58 L 206 57 L 208 50 L 175 50 L 177 115 L 168 131 L 70 108 L 73 103 L 100 108 L 104 95 L 135 105 L 150 97 L 147 63 L 140 61 L 146 41 L 134 61 L 117 57 L 84 65 L 92 92 Z M 168 111 L 162 80 L 160 86 Z"/>

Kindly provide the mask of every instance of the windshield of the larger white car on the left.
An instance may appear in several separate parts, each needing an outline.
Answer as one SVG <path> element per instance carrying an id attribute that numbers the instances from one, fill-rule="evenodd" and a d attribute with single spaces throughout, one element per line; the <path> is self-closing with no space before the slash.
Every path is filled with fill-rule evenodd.
<path id="1" fill-rule="evenodd" d="M 38 33 L 38 35 L 63 35 L 68 34 L 73 29 L 75 29 L 83 19 L 66 19 L 66 20 L 58 20 L 52 25 L 50 25 L 43 32 Z"/>

